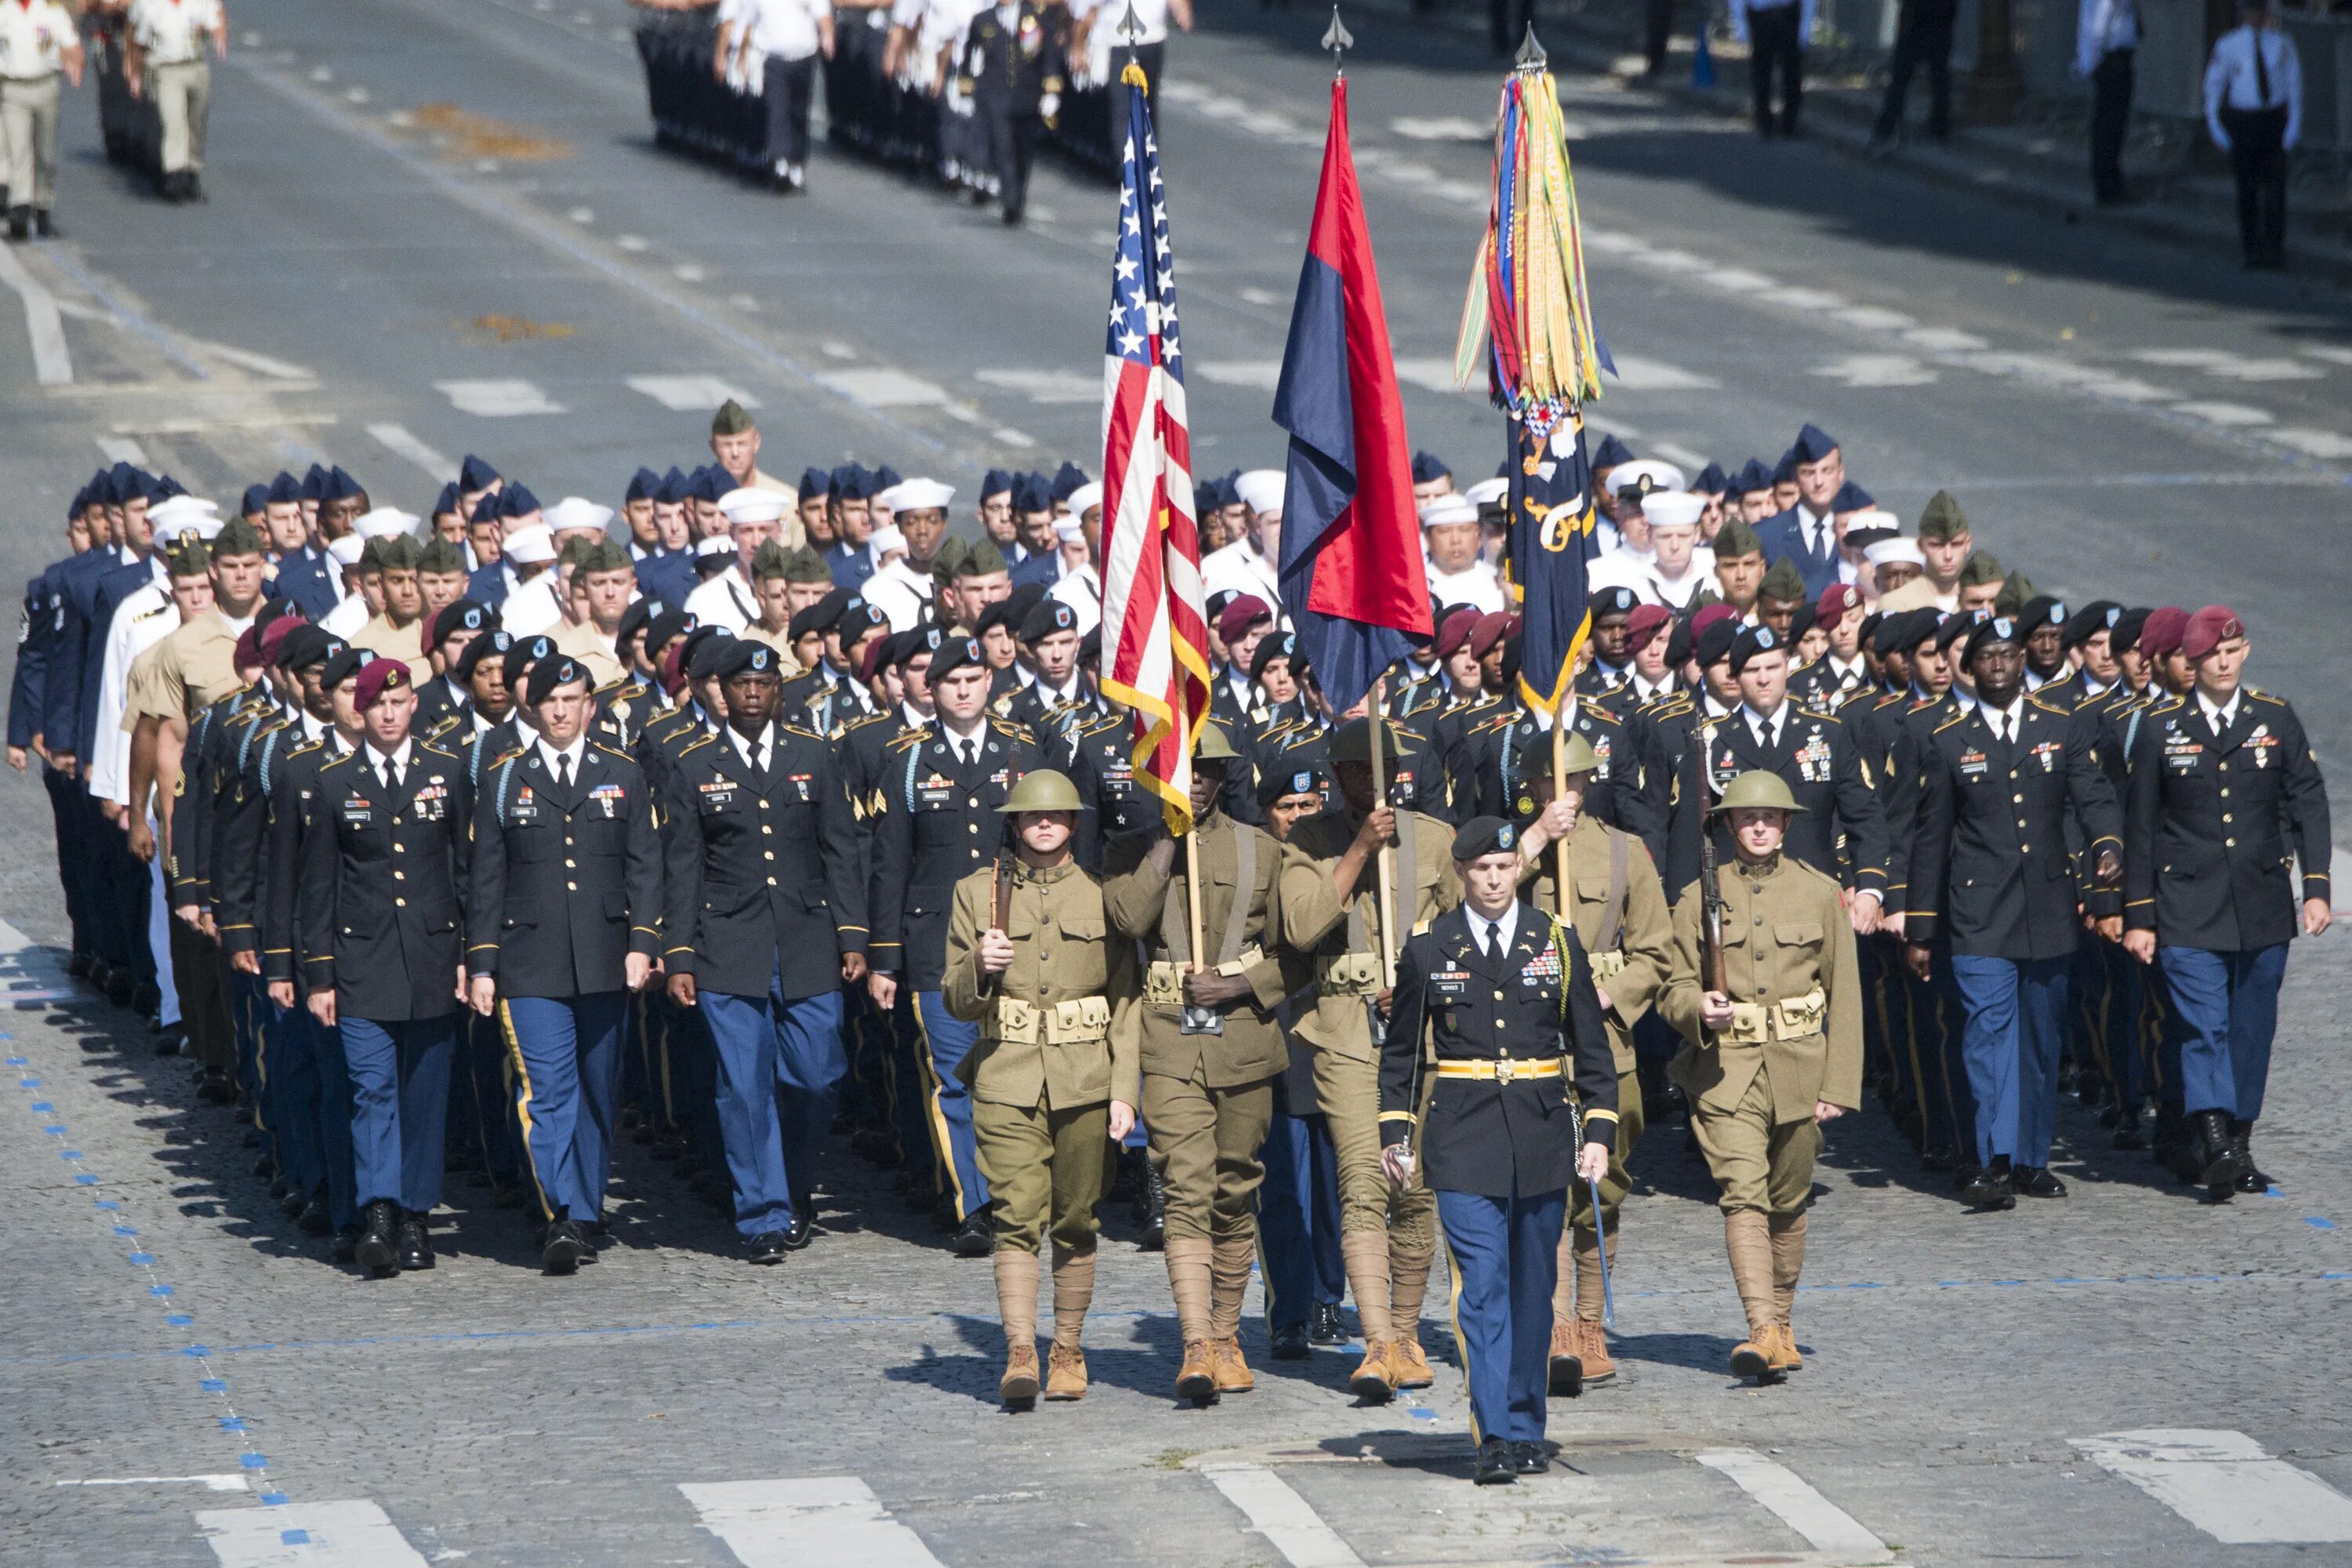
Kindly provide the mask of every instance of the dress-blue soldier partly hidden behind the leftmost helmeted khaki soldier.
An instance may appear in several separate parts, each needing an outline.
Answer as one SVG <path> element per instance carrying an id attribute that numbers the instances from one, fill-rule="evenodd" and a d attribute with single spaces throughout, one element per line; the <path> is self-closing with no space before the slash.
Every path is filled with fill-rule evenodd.
<path id="1" fill-rule="evenodd" d="M 891 1013 L 901 987 L 915 997 L 931 1067 L 931 1138 L 950 1178 L 955 1251 L 985 1258 L 988 1180 L 971 1138 L 971 1093 L 957 1079 L 978 1027 L 941 999 L 948 905 L 955 884 L 990 865 L 1004 839 L 1000 806 L 1044 757 L 1018 724 L 988 717 L 988 656 L 978 637 L 946 637 L 929 668 L 934 719 L 882 752 L 873 818 L 875 1006 Z"/>

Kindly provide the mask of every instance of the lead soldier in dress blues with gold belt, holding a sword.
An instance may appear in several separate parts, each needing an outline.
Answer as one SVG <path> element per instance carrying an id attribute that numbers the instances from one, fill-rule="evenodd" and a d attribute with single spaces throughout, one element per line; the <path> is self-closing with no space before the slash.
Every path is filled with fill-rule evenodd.
<path id="1" fill-rule="evenodd" d="M 1421 1131 L 1454 1265 L 1475 1479 L 1491 1486 L 1550 1467 L 1543 1420 L 1566 1187 L 1609 1171 L 1616 1063 L 1576 931 L 1519 898 L 1517 830 L 1470 818 L 1454 835 L 1454 870 L 1463 903 L 1406 938 L 1397 961 L 1381 1159 L 1390 1180 L 1409 1182 Z M 1423 1119 L 1428 1046 L 1437 1088 Z"/>

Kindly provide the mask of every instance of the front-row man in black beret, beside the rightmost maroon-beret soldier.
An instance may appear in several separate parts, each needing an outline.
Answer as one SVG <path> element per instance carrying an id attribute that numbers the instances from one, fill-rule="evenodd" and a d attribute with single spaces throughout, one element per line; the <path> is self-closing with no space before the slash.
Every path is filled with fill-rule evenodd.
<path id="1" fill-rule="evenodd" d="M 2025 628 L 1992 616 L 1962 649 L 1978 705 L 1945 719 L 1919 755 L 1903 936 L 1922 980 L 1947 938 L 1969 1016 L 1976 1175 L 1962 1197 L 2013 1208 L 2016 1194 L 2065 1197 L 2049 1171 L 2079 931 L 2065 830 L 2079 825 L 2096 879 L 2112 884 L 2122 818 L 2091 724 L 2025 693 Z"/>

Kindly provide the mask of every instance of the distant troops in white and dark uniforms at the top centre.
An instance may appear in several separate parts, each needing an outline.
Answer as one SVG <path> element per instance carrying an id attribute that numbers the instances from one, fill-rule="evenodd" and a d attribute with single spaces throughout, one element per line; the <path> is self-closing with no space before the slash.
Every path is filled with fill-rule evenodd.
<path id="1" fill-rule="evenodd" d="M 818 80 L 840 148 L 995 202 L 1018 223 L 1037 148 L 1117 169 L 1120 68 L 1134 56 L 1152 110 L 1169 26 L 1188 0 L 633 0 L 663 146 L 779 193 L 809 179 Z M 1129 49 L 1131 45 L 1131 49 Z M 1117 134 L 1115 134 L 1117 127 Z"/>

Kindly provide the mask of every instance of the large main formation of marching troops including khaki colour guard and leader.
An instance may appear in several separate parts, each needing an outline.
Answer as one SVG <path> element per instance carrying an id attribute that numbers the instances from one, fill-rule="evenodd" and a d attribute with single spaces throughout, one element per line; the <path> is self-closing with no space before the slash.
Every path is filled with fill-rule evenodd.
<path id="1" fill-rule="evenodd" d="M 468 458 L 428 517 L 341 470 L 223 517 L 115 465 L 28 585 L 9 759 L 49 790 L 71 969 L 158 1016 L 339 1262 L 433 1267 L 459 1168 L 572 1274 L 633 1138 L 774 1265 L 844 1135 L 993 1258 L 1025 1408 L 1087 1389 L 1115 1197 L 1197 1403 L 1251 1387 L 1258 1262 L 1277 1359 L 1352 1298 L 1350 1389 L 1430 1382 L 1444 1246 L 1508 1481 L 1545 1394 L 1616 1371 L 1646 1121 L 1722 1190 L 1759 1380 L 1802 1366 L 1820 1126 L 1872 1100 L 1978 1211 L 2065 1194 L 2060 1093 L 2216 1201 L 2267 1185 L 2331 835 L 2225 607 L 2058 602 L 1943 494 L 1903 534 L 1813 425 L 1729 475 L 1604 442 L 1555 710 L 1501 482 L 1423 454 L 1435 635 L 1334 712 L 1254 470 L 1202 484 L 1178 842 L 1098 689 L 1101 487 L 990 473 L 967 543 L 948 484 L 795 491 L 731 404 L 710 447 L 619 508 Z"/>

